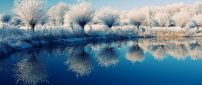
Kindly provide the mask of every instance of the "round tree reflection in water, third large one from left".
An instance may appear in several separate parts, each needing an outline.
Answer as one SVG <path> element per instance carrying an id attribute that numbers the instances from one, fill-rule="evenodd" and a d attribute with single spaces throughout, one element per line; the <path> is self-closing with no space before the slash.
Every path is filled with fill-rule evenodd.
<path id="1" fill-rule="evenodd" d="M 105 46 L 100 48 L 96 55 L 97 61 L 100 66 L 110 67 L 119 62 L 118 53 L 114 47 Z"/>

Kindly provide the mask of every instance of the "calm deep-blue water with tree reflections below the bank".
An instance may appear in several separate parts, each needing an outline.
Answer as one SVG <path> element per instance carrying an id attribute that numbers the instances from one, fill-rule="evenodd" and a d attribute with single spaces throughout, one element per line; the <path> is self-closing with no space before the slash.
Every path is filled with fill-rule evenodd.
<path id="1" fill-rule="evenodd" d="M 0 57 L 0 85 L 202 85 L 202 38 L 36 48 Z"/>

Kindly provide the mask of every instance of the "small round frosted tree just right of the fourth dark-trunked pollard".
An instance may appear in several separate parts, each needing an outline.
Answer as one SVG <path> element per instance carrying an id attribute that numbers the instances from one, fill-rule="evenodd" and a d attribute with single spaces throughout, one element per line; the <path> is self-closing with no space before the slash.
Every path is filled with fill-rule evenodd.
<path id="1" fill-rule="evenodd" d="M 159 11 L 155 14 L 154 21 L 156 21 L 160 27 L 168 26 L 170 23 L 170 15 L 167 12 Z"/>

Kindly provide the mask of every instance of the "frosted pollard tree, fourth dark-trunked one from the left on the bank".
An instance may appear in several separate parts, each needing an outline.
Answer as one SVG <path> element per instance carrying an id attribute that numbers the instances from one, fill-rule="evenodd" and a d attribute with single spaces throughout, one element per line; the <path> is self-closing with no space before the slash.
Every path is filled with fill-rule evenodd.
<path id="1" fill-rule="evenodd" d="M 145 10 L 133 10 L 128 13 L 129 23 L 139 28 L 146 20 Z"/>

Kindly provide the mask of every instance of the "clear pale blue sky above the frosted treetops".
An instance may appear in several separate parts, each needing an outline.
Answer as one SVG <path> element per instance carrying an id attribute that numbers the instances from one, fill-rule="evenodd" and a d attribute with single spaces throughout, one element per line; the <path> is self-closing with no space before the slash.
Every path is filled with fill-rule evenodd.
<path id="1" fill-rule="evenodd" d="M 76 3 L 77 0 L 48 0 L 48 6 L 57 4 L 60 1 L 66 3 Z M 128 10 L 142 6 L 150 5 L 167 5 L 172 3 L 193 3 L 202 0 L 91 0 L 96 8 L 103 6 L 112 6 L 117 9 Z M 14 0 L 0 0 L 0 13 L 11 13 Z"/>

